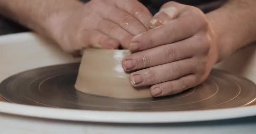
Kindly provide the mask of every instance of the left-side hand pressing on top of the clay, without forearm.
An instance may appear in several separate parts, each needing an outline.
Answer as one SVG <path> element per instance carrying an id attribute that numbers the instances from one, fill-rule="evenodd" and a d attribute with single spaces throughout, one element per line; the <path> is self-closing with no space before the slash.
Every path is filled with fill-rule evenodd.
<path id="1" fill-rule="evenodd" d="M 128 48 L 133 36 L 148 31 L 152 15 L 138 0 L 91 0 L 60 10 L 48 19 L 50 36 L 66 52 L 86 47 Z"/>

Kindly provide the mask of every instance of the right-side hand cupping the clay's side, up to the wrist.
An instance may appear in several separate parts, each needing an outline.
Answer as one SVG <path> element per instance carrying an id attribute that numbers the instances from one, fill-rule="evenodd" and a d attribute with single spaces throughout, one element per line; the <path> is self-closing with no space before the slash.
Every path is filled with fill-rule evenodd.
<path id="1" fill-rule="evenodd" d="M 152 29 L 135 36 L 136 52 L 123 59 L 134 87 L 152 85 L 154 97 L 172 95 L 203 82 L 216 63 L 216 38 L 199 9 L 169 2 L 152 21 Z M 138 52 L 140 51 L 140 52 Z"/>

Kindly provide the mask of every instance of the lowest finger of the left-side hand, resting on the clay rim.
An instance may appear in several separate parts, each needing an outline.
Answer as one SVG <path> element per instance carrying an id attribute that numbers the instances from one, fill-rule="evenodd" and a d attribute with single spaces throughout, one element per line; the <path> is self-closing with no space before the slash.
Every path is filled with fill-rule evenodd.
<path id="1" fill-rule="evenodd" d="M 105 49 L 116 49 L 119 46 L 119 41 L 101 33 L 100 31 L 85 30 L 82 35 L 81 44 L 84 45 L 80 46 L 77 50 L 83 49 L 86 46 Z"/>

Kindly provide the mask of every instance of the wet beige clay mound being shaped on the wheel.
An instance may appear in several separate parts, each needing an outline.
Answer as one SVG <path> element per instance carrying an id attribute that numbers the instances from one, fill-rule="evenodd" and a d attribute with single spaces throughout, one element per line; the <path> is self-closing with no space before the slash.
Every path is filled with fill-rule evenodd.
<path id="1" fill-rule="evenodd" d="M 83 93 L 112 98 L 149 98 L 149 87 L 133 88 L 122 60 L 129 50 L 85 49 L 75 88 Z"/>

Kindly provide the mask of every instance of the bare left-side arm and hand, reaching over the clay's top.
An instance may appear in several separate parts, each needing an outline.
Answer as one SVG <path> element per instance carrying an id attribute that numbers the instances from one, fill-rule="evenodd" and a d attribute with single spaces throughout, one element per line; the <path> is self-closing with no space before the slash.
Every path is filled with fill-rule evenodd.
<path id="1" fill-rule="evenodd" d="M 152 18 L 138 0 L 0 0 L 0 14 L 56 41 L 67 52 L 128 47 Z M 3 9 L 3 10 L 2 10 Z"/>

